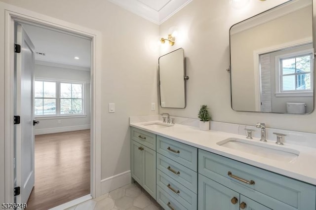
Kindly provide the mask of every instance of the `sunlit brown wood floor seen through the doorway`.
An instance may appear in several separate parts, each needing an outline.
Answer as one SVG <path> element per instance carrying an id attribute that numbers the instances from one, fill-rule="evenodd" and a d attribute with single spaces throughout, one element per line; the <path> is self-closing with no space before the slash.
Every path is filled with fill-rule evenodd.
<path id="1" fill-rule="evenodd" d="M 26 210 L 90 194 L 90 130 L 35 136 L 35 187 Z"/>

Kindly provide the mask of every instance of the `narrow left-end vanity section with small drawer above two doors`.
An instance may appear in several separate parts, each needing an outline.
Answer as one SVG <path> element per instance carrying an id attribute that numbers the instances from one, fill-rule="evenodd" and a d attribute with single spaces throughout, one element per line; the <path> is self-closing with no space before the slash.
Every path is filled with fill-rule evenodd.
<path id="1" fill-rule="evenodd" d="M 156 199 L 156 135 L 131 127 L 131 176 Z"/>

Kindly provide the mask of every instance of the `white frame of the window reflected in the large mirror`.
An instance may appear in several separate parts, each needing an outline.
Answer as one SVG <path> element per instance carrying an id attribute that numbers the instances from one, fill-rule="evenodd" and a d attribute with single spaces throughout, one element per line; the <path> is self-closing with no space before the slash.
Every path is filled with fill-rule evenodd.
<path id="1" fill-rule="evenodd" d="M 282 82 L 282 70 L 281 70 L 281 60 L 291 57 L 298 57 L 302 55 L 312 54 L 311 61 L 311 90 L 291 90 L 291 91 L 281 91 Z M 275 57 L 275 68 L 276 68 L 276 97 L 294 97 L 294 96 L 313 96 L 314 90 L 314 49 L 302 50 L 293 53 L 287 53 Z"/>

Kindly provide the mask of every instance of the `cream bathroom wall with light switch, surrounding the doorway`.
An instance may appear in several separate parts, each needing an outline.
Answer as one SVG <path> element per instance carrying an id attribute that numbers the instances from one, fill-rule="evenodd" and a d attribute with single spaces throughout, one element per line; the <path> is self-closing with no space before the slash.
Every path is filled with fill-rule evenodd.
<path id="1" fill-rule="evenodd" d="M 102 34 L 101 178 L 130 170 L 128 117 L 157 114 L 158 25 L 107 0 L 3 0 Z M 4 30 L 0 2 L 0 31 Z M 3 201 L 4 33 L 0 33 L 0 202 Z M 116 113 L 108 113 L 115 103 Z"/>

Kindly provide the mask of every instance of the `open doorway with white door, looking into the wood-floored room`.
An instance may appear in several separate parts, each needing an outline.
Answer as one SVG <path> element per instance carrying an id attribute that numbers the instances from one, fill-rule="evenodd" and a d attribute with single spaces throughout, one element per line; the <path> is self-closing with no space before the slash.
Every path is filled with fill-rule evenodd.
<path id="1" fill-rule="evenodd" d="M 33 84 L 28 84 L 30 89 L 33 87 L 33 94 L 27 93 L 28 88 L 25 90 L 25 76 L 21 76 L 23 85 L 15 79 L 17 87 L 23 87 L 15 91 L 17 98 L 19 92 L 24 92 L 21 96 L 33 95 L 32 101 L 25 97 L 17 99 L 16 109 L 18 113 L 19 103 L 23 104 L 21 107 L 33 105 L 33 113 L 27 114 L 29 110 L 23 108 L 20 115 L 23 132 L 30 133 L 26 130 L 34 127 L 35 135 L 33 140 L 34 137 L 22 133 L 21 144 L 15 141 L 16 187 L 21 186 L 20 202 L 27 201 L 27 210 L 45 210 L 90 194 L 91 40 L 28 24 L 16 23 L 16 29 L 30 42 L 24 44 L 18 40 L 21 35 L 16 36 L 16 43 L 21 43 L 23 49 L 15 53 L 16 58 L 22 56 L 21 64 L 16 59 L 21 75 L 32 68 L 29 62 L 32 58 L 26 60 L 26 52 L 32 53 L 26 51 L 28 45 L 33 46 L 35 58 Z M 25 129 L 30 124 L 27 121 L 33 121 L 28 120 L 32 115 L 34 126 Z M 18 135 L 16 137 L 18 139 Z M 29 142 L 31 139 L 33 142 Z M 19 151 L 21 155 L 17 154 Z M 32 167 L 29 173 L 27 168 Z M 19 180 L 22 182 L 18 183 Z M 33 183 L 29 183 L 31 181 Z"/>

